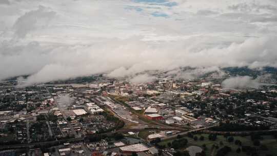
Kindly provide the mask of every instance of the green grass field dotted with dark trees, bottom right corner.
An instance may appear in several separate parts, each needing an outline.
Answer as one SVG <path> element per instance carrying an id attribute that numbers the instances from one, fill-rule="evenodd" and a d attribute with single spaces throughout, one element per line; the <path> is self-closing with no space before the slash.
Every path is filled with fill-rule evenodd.
<path id="1" fill-rule="evenodd" d="M 238 156 L 246 156 L 247 154 L 245 152 L 241 152 L 241 153 L 236 153 L 236 149 L 240 146 L 238 145 L 235 145 L 234 142 L 231 142 L 229 143 L 226 138 L 224 138 L 223 135 L 217 135 L 217 139 L 216 141 L 210 141 L 208 140 L 208 134 L 195 134 L 196 136 L 198 136 L 198 138 L 200 138 L 200 136 L 204 136 L 205 140 L 204 141 L 200 141 L 200 140 L 197 140 L 197 141 L 194 141 L 193 139 L 191 138 L 188 138 L 187 136 L 184 136 L 183 138 L 186 138 L 188 140 L 188 144 L 187 146 L 185 146 L 184 148 L 182 149 L 186 149 L 187 147 L 189 146 L 200 146 L 202 147 L 203 144 L 206 144 L 206 155 L 212 155 L 212 145 L 215 144 L 215 145 L 218 145 L 219 148 L 223 147 L 223 146 L 229 146 L 232 148 L 232 151 L 229 152 L 227 154 L 227 156 L 233 156 L 233 155 L 238 155 Z M 253 143 L 251 141 L 251 138 L 250 136 L 233 136 L 234 137 L 234 140 L 240 140 L 242 142 L 242 145 L 249 145 L 249 146 L 253 146 Z M 270 135 L 265 135 L 263 136 L 263 140 L 260 140 L 261 142 L 261 145 L 266 145 L 268 147 L 268 150 L 267 151 L 261 151 L 260 150 L 260 155 L 266 155 L 266 154 L 272 154 L 272 155 L 275 155 L 277 153 L 277 141 L 276 139 L 273 138 L 273 136 L 270 136 Z M 162 141 L 160 142 L 159 144 L 160 145 L 165 145 L 166 147 L 167 144 L 169 142 L 172 142 L 173 140 L 166 140 L 166 141 Z M 223 145 L 220 145 L 220 142 L 223 143 Z M 258 147 L 259 148 L 259 147 Z M 215 151 L 213 152 L 213 155 L 216 155 L 216 151 L 217 149 L 214 149 Z"/>

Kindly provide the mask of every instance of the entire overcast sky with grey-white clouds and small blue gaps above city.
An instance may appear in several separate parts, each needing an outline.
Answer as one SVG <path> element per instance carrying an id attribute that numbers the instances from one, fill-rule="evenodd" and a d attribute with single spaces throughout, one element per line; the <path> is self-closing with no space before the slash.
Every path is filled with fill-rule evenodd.
<path id="1" fill-rule="evenodd" d="M 1 0 L 0 80 L 277 67 L 275 0 Z"/>

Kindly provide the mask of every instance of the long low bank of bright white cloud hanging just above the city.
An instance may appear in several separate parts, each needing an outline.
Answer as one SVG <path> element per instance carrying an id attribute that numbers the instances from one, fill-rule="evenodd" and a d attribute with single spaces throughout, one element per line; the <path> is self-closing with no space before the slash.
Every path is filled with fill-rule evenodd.
<path id="1" fill-rule="evenodd" d="M 110 77 L 125 77 L 146 70 L 167 71 L 186 66 L 197 68 L 198 70 L 179 74 L 180 77 L 189 78 L 216 71 L 219 67 L 276 67 L 275 39 L 253 38 L 241 44 L 233 43 L 226 48 L 203 49 L 197 52 L 181 48 L 180 43 L 174 43 L 173 47 L 170 47 L 172 43 L 149 46 L 136 37 L 91 46 L 45 47 L 34 43 L 7 47 L 5 52 L 12 50 L 14 54 L 2 53 L 2 58 L 5 59 L 0 62 L 0 69 L 6 73 L 4 77 L 19 73 L 32 74 L 26 80 L 27 85 L 102 72 L 108 72 Z M 110 47 L 106 47 L 106 44 Z M 16 49 L 23 51 L 16 52 Z M 171 51 L 174 51 L 174 55 Z M 25 69 L 26 67 L 29 68 Z"/>

